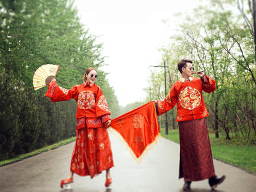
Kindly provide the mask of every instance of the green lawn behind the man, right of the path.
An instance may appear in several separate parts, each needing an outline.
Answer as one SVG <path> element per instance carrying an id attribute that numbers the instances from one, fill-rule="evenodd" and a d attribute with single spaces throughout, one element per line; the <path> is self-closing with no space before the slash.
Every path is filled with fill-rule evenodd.
<path id="1" fill-rule="evenodd" d="M 165 135 L 164 129 L 161 129 L 161 135 L 179 143 L 179 129 L 169 130 L 168 135 Z M 227 141 L 225 138 L 216 139 L 213 133 L 210 133 L 209 136 L 214 159 L 256 175 L 256 145 L 243 145 L 243 143 L 234 142 L 232 139 L 231 141 Z"/>

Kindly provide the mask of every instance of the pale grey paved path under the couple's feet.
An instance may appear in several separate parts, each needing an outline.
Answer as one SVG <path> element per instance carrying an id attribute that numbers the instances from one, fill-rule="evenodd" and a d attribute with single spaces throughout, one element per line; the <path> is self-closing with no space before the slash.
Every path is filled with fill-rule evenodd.
<path id="1" fill-rule="evenodd" d="M 105 172 L 90 179 L 74 175 L 75 182 L 65 192 L 172 192 L 182 191 L 183 180 L 178 179 L 179 145 L 161 138 L 155 148 L 137 164 L 123 144 L 111 133 L 115 167 L 111 169 L 113 184 L 104 187 Z M 0 191 L 61 191 L 60 180 L 69 175 L 74 142 L 17 163 L 0 167 Z M 216 173 L 227 179 L 216 191 L 256 191 L 256 176 L 214 160 Z M 192 191 L 210 191 L 207 180 L 193 182 Z"/>

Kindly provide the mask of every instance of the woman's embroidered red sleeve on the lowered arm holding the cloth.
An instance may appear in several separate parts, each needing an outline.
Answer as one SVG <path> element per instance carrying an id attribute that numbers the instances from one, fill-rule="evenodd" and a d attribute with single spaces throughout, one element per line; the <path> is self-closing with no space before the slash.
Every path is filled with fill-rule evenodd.
<path id="1" fill-rule="evenodd" d="M 108 103 L 102 93 L 102 90 L 99 88 L 96 97 L 96 116 L 110 115 L 110 110 Z"/>

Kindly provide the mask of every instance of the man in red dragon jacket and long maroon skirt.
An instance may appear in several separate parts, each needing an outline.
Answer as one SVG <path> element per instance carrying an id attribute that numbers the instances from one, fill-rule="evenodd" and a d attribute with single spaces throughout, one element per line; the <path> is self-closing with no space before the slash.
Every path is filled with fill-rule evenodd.
<path id="1" fill-rule="evenodd" d="M 175 82 L 163 101 L 157 100 L 158 114 L 162 115 L 177 104 L 177 119 L 180 134 L 179 178 L 184 177 L 185 191 L 190 190 L 192 181 L 209 179 L 211 189 L 225 179 L 216 177 L 212 161 L 211 144 L 205 117 L 209 113 L 205 107 L 202 91 L 211 93 L 216 89 L 215 81 L 204 72 L 195 72 L 193 62 L 181 60 L 178 69 L 180 79 Z"/>

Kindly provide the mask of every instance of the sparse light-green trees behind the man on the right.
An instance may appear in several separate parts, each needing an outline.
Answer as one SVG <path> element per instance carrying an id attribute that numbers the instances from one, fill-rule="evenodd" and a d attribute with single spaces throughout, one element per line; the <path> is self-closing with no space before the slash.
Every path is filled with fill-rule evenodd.
<path id="1" fill-rule="evenodd" d="M 228 140 L 235 136 L 255 143 L 256 64 L 252 1 L 210 2 L 209 6 L 194 10 L 179 26 L 181 32 L 171 37 L 170 46 L 160 49 L 164 53 L 163 61 L 169 64 L 168 87 L 179 78 L 177 61 L 193 60 L 195 70 L 204 70 L 216 80 L 216 91 L 204 94 L 210 113 L 209 127 L 216 133 L 216 138 L 221 131 Z M 163 79 L 163 72 L 157 72 L 155 76 Z M 150 88 L 159 89 L 160 85 L 156 86 L 156 83 L 156 79 L 150 79 Z M 161 99 L 164 99 L 163 92 Z M 175 113 L 170 116 L 172 119 Z"/>

